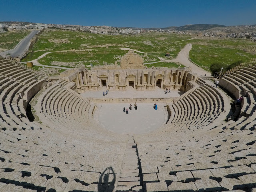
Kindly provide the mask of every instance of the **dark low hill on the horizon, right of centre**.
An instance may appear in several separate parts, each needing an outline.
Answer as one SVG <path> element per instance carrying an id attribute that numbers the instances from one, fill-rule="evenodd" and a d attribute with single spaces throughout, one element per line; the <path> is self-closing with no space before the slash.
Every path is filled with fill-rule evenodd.
<path id="1" fill-rule="evenodd" d="M 203 31 L 208 30 L 214 27 L 226 27 L 225 25 L 216 25 L 216 24 L 194 24 L 194 25 L 184 25 L 180 27 L 166 27 L 162 28 L 162 30 L 176 30 L 176 31 Z"/>

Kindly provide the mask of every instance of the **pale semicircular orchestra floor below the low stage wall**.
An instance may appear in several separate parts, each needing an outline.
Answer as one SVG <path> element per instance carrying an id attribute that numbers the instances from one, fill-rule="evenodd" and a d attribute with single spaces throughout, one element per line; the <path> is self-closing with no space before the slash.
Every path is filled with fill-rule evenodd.
<path id="1" fill-rule="evenodd" d="M 158 104 L 154 109 L 154 103 L 137 103 L 137 110 L 132 103 L 103 103 L 97 104 L 97 112 L 94 118 L 98 118 L 100 125 L 111 132 L 120 134 L 144 134 L 160 128 L 166 123 L 168 114 L 164 104 Z M 166 105 L 166 104 L 165 104 Z M 128 114 L 123 109 L 128 108 Z"/>

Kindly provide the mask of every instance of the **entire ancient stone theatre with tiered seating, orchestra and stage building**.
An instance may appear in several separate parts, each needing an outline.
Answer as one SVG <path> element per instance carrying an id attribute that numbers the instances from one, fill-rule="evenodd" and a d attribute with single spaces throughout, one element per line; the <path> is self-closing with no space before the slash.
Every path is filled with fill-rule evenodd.
<path id="1" fill-rule="evenodd" d="M 132 50 L 59 76 L 1 57 L 0 98 L 0 191 L 255 190 L 255 59 L 216 86 Z"/>

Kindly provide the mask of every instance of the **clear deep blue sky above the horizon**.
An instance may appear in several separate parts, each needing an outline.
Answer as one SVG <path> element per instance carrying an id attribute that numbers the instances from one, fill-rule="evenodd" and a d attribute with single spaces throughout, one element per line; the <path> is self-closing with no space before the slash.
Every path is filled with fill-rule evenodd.
<path id="1" fill-rule="evenodd" d="M 256 24 L 256 0 L 0 0 L 0 21 L 144 28 Z"/>

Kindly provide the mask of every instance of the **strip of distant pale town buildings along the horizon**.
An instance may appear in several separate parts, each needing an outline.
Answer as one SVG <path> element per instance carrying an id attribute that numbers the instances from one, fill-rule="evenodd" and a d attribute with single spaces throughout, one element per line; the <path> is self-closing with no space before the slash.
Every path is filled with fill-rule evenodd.
<path id="1" fill-rule="evenodd" d="M 200 26 L 198 30 L 194 26 Z M 207 26 L 208 28 L 204 27 Z M 211 26 L 211 28 L 209 28 Z M 168 28 L 127 28 L 127 27 L 112 27 L 112 26 L 81 26 L 70 24 L 42 24 L 42 23 L 28 23 L 26 22 L 0 22 L 0 33 L 12 30 L 25 30 L 34 29 L 42 30 L 45 28 L 58 28 L 63 30 L 84 31 L 94 34 L 140 34 L 144 32 L 160 32 L 160 33 L 177 33 L 188 34 L 193 37 L 230 37 L 230 38 L 248 38 L 256 41 L 256 25 L 243 25 L 243 26 L 221 26 L 208 25 L 208 24 L 195 24 L 181 27 L 168 27 Z"/>

